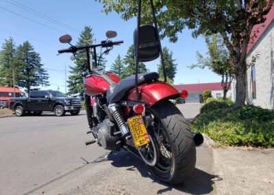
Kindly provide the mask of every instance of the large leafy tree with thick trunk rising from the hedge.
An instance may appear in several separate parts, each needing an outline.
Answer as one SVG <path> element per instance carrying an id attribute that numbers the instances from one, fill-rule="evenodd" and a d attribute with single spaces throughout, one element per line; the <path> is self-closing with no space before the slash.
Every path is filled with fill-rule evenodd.
<path id="1" fill-rule="evenodd" d="M 112 10 L 128 20 L 137 14 L 136 1 L 97 0 L 105 13 Z M 161 36 L 177 41 L 177 33 L 184 27 L 193 30 L 192 35 L 220 33 L 234 64 L 236 75 L 236 108 L 245 105 L 247 90 L 247 45 L 256 36 L 253 26 L 264 23 L 274 0 L 174 0 L 153 1 Z M 142 23 L 152 23 L 149 1 L 142 1 Z"/>

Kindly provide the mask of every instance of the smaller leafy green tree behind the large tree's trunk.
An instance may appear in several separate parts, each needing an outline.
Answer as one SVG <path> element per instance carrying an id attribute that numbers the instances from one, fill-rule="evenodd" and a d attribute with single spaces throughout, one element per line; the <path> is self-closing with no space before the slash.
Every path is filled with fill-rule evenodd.
<path id="1" fill-rule="evenodd" d="M 234 66 L 229 56 L 229 52 L 223 43 L 221 34 L 213 34 L 212 36 L 205 36 L 206 45 L 208 45 L 207 56 L 203 57 L 197 51 L 198 63 L 191 65 L 190 69 L 199 67 L 204 69 L 208 67 L 214 73 L 222 77 L 221 84 L 223 87 L 223 99 L 227 98 L 227 91 L 231 86 L 231 82 L 234 78 Z"/>

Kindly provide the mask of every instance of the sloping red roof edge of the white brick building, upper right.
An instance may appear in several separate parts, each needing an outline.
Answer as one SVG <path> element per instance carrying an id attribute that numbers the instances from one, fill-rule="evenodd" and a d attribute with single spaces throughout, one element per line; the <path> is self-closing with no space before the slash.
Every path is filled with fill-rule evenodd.
<path id="1" fill-rule="evenodd" d="M 274 19 L 274 6 L 272 6 L 271 10 L 268 14 L 266 14 L 266 21 L 264 23 L 254 25 L 252 32 L 251 32 L 251 39 L 249 41 L 249 45 L 247 45 L 247 54 L 251 49 L 256 45 L 262 34 L 264 34 L 264 31 L 266 31 L 267 27 L 273 22 Z M 256 34 L 256 36 L 254 36 Z"/>

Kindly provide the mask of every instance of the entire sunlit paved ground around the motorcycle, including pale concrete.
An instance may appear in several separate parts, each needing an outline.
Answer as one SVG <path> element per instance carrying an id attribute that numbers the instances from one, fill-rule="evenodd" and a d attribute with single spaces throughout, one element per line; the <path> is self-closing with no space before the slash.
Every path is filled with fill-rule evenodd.
<path id="1" fill-rule="evenodd" d="M 177 105 L 188 119 L 200 104 Z M 197 148 L 188 181 L 172 186 L 129 152 L 93 144 L 86 115 L 0 118 L 0 194 L 273 194 L 274 150 Z M 108 157 L 107 157 L 108 155 Z M 88 163 L 87 163 L 88 162 Z"/>

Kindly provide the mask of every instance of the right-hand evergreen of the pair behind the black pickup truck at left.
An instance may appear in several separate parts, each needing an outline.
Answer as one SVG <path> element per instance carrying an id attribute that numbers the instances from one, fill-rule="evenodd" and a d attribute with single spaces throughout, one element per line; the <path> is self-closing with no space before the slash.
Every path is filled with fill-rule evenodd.
<path id="1" fill-rule="evenodd" d="M 34 47 L 25 41 L 23 45 L 19 45 L 16 51 L 16 65 L 20 69 L 18 73 L 18 86 L 27 89 L 27 93 L 31 89 L 38 89 L 49 86 L 49 74 L 42 68 L 40 54 L 34 51 Z"/>

